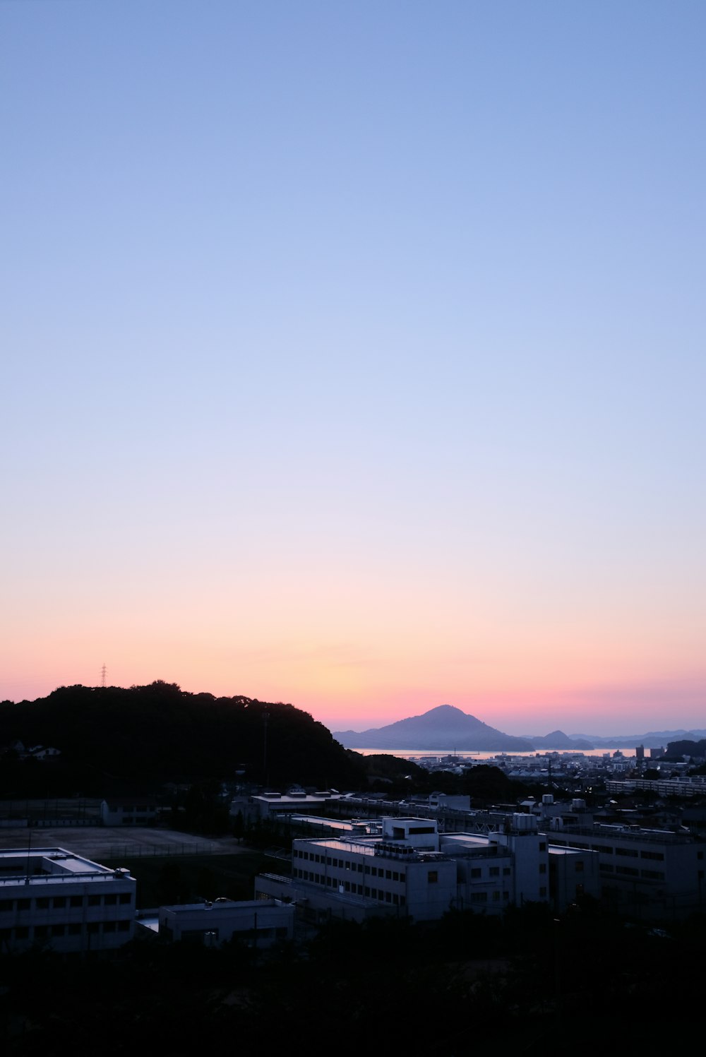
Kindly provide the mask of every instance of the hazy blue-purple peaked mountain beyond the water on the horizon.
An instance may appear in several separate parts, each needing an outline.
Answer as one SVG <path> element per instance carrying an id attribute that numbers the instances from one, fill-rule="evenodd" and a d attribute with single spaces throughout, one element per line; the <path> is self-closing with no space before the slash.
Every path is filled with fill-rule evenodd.
<path id="1" fill-rule="evenodd" d="M 439 705 L 370 730 L 338 730 L 334 738 L 347 748 L 458 748 L 495 753 L 531 753 L 524 738 L 496 730 L 453 705 Z"/>

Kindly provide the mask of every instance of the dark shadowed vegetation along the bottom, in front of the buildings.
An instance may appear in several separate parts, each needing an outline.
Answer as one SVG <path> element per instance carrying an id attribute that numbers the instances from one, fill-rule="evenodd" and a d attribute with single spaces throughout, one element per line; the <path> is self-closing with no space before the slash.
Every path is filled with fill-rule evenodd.
<path id="1" fill-rule="evenodd" d="M 259 963 L 238 943 L 135 941 L 110 958 L 63 961 L 36 950 L 0 959 L 0 1039 L 8 1057 L 69 1040 L 109 1057 L 152 1046 L 268 1054 L 314 1036 L 343 1057 L 380 1046 L 461 1057 L 483 1043 L 544 1053 L 561 1030 L 572 1054 L 593 1055 L 601 1033 L 624 1028 L 651 1053 L 701 1020 L 693 965 L 706 919 L 669 930 L 590 904 L 562 920 L 528 905 L 428 925 L 332 921 L 306 948 Z"/>

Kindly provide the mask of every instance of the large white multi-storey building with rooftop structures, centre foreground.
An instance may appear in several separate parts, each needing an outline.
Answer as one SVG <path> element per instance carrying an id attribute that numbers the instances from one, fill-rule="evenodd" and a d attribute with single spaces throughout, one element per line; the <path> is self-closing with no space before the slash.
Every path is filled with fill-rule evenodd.
<path id="1" fill-rule="evenodd" d="M 426 818 L 383 818 L 371 829 L 295 840 L 292 876 L 261 875 L 256 894 L 291 900 L 312 921 L 431 921 L 454 908 L 501 913 L 551 898 L 547 838 L 532 816 L 514 815 L 484 835 L 440 834 Z"/>

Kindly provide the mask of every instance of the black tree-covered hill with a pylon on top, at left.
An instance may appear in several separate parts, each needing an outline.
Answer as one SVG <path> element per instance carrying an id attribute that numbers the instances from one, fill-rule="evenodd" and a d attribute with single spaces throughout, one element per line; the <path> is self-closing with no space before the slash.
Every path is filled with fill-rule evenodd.
<path id="1" fill-rule="evenodd" d="M 188 693 L 162 681 L 129 689 L 62 686 L 36 701 L 3 702 L 0 748 L 15 740 L 60 749 L 56 762 L 35 766 L 80 774 L 81 792 L 94 794 L 111 781 L 235 779 L 242 768 L 246 780 L 272 784 L 360 782 L 355 757 L 308 712 L 281 702 Z"/>

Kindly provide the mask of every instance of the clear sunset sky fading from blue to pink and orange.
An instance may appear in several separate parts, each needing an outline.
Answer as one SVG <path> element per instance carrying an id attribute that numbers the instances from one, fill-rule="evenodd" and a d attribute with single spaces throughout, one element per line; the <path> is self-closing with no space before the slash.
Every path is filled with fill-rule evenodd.
<path id="1" fill-rule="evenodd" d="M 706 727 L 705 45 L 2 0 L 0 700 Z"/>

